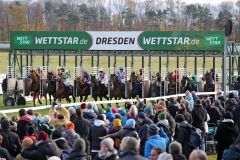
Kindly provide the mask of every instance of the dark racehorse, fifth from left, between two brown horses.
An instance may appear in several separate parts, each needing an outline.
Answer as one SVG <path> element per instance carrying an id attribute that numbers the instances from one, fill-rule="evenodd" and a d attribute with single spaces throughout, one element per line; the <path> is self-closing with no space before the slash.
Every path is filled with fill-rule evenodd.
<path id="1" fill-rule="evenodd" d="M 91 75 L 91 89 L 92 89 L 92 97 L 95 101 L 99 97 L 102 101 L 102 98 L 109 99 L 107 97 L 108 89 L 104 84 L 101 84 L 101 81 L 98 81 L 95 75 Z"/>

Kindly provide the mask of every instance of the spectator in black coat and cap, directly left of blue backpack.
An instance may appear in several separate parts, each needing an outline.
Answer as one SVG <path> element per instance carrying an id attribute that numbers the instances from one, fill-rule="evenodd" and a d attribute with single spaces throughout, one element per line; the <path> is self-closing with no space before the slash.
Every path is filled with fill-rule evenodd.
<path id="1" fill-rule="evenodd" d="M 188 158 L 194 149 L 188 145 L 192 125 L 185 121 L 185 118 L 182 114 L 178 114 L 175 120 L 178 126 L 175 139 L 182 144 L 182 152 L 186 158 Z"/>

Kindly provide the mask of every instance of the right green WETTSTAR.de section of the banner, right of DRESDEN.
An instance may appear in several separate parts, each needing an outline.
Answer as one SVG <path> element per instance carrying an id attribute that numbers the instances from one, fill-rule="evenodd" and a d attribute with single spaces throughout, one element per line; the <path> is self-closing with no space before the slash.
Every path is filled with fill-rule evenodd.
<path id="1" fill-rule="evenodd" d="M 143 32 L 138 39 L 143 50 L 224 49 L 224 32 Z"/>

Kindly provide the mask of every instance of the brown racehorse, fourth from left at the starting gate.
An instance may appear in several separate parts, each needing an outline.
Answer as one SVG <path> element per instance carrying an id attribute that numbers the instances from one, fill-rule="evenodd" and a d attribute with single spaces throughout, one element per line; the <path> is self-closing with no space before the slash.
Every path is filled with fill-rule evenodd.
<path id="1" fill-rule="evenodd" d="M 85 102 L 90 95 L 90 84 L 84 82 L 81 77 L 77 77 L 74 80 L 74 86 L 76 91 L 76 97 L 80 97 L 80 102 Z M 84 97 L 84 99 L 83 99 Z"/>

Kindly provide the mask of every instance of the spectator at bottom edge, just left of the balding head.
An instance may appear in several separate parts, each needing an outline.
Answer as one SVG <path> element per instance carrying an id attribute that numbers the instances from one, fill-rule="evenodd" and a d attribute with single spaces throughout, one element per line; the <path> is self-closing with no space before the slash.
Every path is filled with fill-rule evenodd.
<path id="1" fill-rule="evenodd" d="M 169 145 L 169 153 L 172 155 L 173 160 L 187 160 L 187 158 L 182 154 L 182 145 L 177 141 L 173 141 Z"/>

